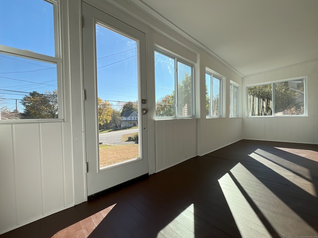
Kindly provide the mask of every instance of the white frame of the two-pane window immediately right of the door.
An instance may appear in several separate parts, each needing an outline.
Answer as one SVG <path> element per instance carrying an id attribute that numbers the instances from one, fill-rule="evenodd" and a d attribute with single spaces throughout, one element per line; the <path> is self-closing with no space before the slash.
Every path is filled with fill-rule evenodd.
<path id="1" fill-rule="evenodd" d="M 154 50 L 154 56 L 155 53 L 161 54 L 165 57 L 171 58 L 174 60 L 174 116 L 157 116 L 156 113 L 156 105 L 155 105 L 155 114 L 156 114 L 156 119 L 191 119 L 191 118 L 195 118 L 195 97 L 194 97 L 194 65 L 191 64 L 189 61 L 182 59 L 181 57 L 178 57 L 177 55 L 171 54 L 171 53 L 167 53 L 164 50 L 155 48 Z M 192 105 L 191 105 L 191 116 L 178 116 L 178 62 L 187 65 L 191 68 L 191 101 L 192 101 Z M 154 68 L 155 69 L 155 68 Z M 156 71 L 156 69 L 154 70 Z M 156 75 L 155 75 L 155 102 L 156 101 Z"/>

